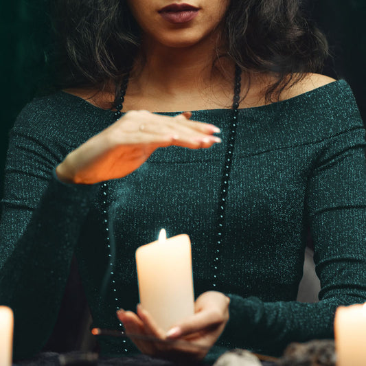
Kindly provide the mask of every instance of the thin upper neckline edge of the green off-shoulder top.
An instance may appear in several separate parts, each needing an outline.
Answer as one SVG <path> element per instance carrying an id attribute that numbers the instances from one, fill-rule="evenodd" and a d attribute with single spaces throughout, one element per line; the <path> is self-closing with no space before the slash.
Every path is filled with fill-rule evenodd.
<path id="1" fill-rule="evenodd" d="M 279 102 L 273 102 L 271 104 L 263 104 L 262 106 L 252 106 L 252 107 L 247 107 L 247 108 L 238 108 L 238 111 L 239 112 L 242 112 L 242 111 L 255 111 L 255 110 L 261 110 L 261 109 L 264 109 L 264 108 L 273 108 L 275 106 L 279 106 L 279 105 L 283 105 L 283 104 L 291 104 L 292 102 L 297 102 L 298 100 L 301 100 L 302 98 L 308 98 L 312 94 L 316 94 L 316 93 L 319 93 L 321 91 L 325 91 L 325 90 L 327 90 L 331 87 L 334 87 L 336 85 L 339 85 L 339 84 L 345 84 L 346 86 L 348 86 L 347 82 L 343 79 L 334 80 L 333 82 L 329 82 L 328 84 L 324 84 L 321 87 L 317 87 L 317 88 L 314 88 L 310 91 L 300 93 L 298 95 L 295 95 L 295 96 L 293 96 L 291 98 L 288 98 L 288 99 L 285 99 L 285 100 L 280 100 Z M 84 105 L 89 106 L 90 108 L 93 108 L 97 111 L 105 112 L 105 113 L 115 113 L 115 111 L 112 111 L 111 109 L 103 109 L 103 108 L 100 108 L 98 106 L 95 106 L 94 104 L 91 104 L 87 100 L 84 100 L 83 98 L 78 97 L 78 95 L 68 93 L 67 91 L 60 90 L 59 93 L 62 93 L 63 95 L 67 95 L 70 98 L 72 98 L 73 100 L 79 100 Z M 192 113 L 205 113 L 205 112 L 220 113 L 220 112 L 225 112 L 225 111 L 231 111 L 231 108 L 196 109 L 196 110 L 191 111 L 191 112 Z M 154 112 L 154 113 L 168 114 L 168 115 L 173 114 L 174 115 L 176 113 L 182 113 L 182 112 L 183 111 L 170 111 L 170 112 L 161 111 L 161 112 Z"/>

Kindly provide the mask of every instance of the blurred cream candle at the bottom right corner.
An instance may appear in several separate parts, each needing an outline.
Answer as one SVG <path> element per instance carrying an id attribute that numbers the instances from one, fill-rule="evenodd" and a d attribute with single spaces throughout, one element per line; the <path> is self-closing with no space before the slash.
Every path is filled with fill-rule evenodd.
<path id="1" fill-rule="evenodd" d="M 334 320 L 337 366 L 366 365 L 366 304 L 340 306 Z"/>

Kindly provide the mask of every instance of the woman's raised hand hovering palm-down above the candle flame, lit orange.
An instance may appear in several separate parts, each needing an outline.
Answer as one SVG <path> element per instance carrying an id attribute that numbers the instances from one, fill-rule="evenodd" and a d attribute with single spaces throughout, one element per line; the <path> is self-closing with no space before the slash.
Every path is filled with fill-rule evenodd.
<path id="1" fill-rule="evenodd" d="M 93 184 L 122 178 L 139 168 L 157 148 L 209 148 L 220 130 L 190 121 L 192 113 L 175 117 L 130 111 L 67 155 L 56 168 L 61 181 Z"/>

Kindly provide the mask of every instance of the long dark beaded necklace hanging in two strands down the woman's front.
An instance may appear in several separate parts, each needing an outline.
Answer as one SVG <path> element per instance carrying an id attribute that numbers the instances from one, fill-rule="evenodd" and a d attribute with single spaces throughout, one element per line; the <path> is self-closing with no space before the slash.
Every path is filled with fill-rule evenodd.
<path id="1" fill-rule="evenodd" d="M 122 109 L 124 104 L 124 96 L 126 95 L 127 87 L 128 87 L 128 78 L 129 74 L 126 75 L 124 81 L 122 82 L 119 100 L 116 103 L 115 109 L 115 121 L 122 116 Z M 212 286 L 216 287 L 218 273 L 219 273 L 219 263 L 220 263 L 220 250 L 222 247 L 222 229 L 224 227 L 225 222 L 225 207 L 226 207 L 226 200 L 227 200 L 227 191 L 229 188 L 229 179 L 230 179 L 230 170 L 231 170 L 231 163 L 232 163 L 232 155 L 233 155 L 233 148 L 236 140 L 236 128 L 237 128 L 237 121 L 238 121 L 238 107 L 240 101 L 240 82 L 241 82 L 241 70 L 236 65 L 235 68 L 235 82 L 234 82 L 234 95 L 233 95 L 233 104 L 231 106 L 232 110 L 232 119 L 231 119 L 231 126 L 229 131 L 229 138 L 227 141 L 227 150 L 225 152 L 225 164 L 222 170 L 222 178 L 221 178 L 221 189 L 220 189 L 220 198 L 218 203 L 218 219 L 216 225 L 216 249 L 213 251 L 211 258 L 211 265 L 212 265 Z M 118 304 L 117 298 L 117 288 L 115 286 L 115 273 L 114 273 L 114 264 L 113 264 L 113 254 L 111 248 L 111 233 L 109 232 L 109 225 L 108 225 L 108 216 L 107 216 L 107 207 L 106 207 L 106 197 L 108 196 L 108 184 L 106 182 L 102 185 L 102 212 L 104 215 L 104 224 L 106 230 L 106 245 L 108 247 L 108 258 L 109 258 L 109 266 L 110 266 L 110 279 L 112 284 L 112 291 L 113 295 L 115 296 L 115 308 L 118 310 L 120 308 Z M 122 323 L 119 323 L 119 327 L 123 330 Z M 128 352 L 126 348 L 126 340 L 122 340 L 123 351 L 126 353 Z"/>

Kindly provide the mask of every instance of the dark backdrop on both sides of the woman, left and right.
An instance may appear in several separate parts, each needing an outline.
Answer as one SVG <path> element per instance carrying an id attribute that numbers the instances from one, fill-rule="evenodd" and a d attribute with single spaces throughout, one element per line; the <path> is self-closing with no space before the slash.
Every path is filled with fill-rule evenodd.
<path id="1" fill-rule="evenodd" d="M 52 38 L 49 0 L 2 0 L 0 4 L 0 196 L 8 131 L 21 108 L 41 90 Z M 310 18 L 328 36 L 333 58 L 324 73 L 345 78 L 366 121 L 366 1 L 306 0 Z"/>

